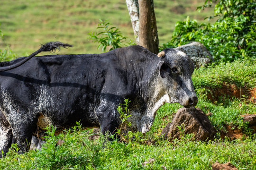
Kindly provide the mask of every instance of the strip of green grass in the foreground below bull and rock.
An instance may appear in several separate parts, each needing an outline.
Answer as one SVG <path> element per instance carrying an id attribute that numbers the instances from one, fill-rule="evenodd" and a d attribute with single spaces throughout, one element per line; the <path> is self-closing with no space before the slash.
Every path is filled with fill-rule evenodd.
<path id="1" fill-rule="evenodd" d="M 49 133 L 52 133 L 54 128 Z M 29 151 L 18 155 L 14 149 L 1 159 L 1 169 L 75 169 L 75 170 L 210 170 L 219 161 L 230 161 L 238 169 L 255 170 L 256 139 L 233 142 L 195 142 L 189 136 L 170 143 L 166 140 L 147 145 L 137 142 L 121 143 L 107 141 L 101 136 L 89 140 L 88 130 L 78 129 L 76 133 L 49 136 L 47 147 L 40 151 Z M 65 142 L 55 145 L 58 138 Z M 15 145 L 14 145 L 15 148 Z"/>

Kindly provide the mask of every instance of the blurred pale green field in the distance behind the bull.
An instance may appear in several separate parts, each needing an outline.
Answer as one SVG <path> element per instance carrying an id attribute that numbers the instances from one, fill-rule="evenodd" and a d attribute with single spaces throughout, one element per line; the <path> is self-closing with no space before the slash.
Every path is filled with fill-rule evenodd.
<path id="1" fill-rule="evenodd" d="M 190 18 L 203 21 L 213 15 L 212 9 L 195 11 L 204 0 L 155 0 L 159 44 L 167 42 L 175 23 Z M 88 39 L 99 19 L 109 19 L 124 36 L 134 40 L 125 0 L 1 0 L 0 29 L 4 40 L 17 57 L 36 51 L 41 43 L 61 41 L 74 47 L 61 53 L 101 53 Z"/>

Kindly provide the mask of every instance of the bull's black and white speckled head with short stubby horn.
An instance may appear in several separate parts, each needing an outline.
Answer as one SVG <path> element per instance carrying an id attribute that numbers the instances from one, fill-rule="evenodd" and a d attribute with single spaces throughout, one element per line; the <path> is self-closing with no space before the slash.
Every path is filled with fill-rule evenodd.
<path id="1" fill-rule="evenodd" d="M 198 98 L 192 84 L 194 65 L 192 60 L 182 51 L 165 49 L 157 55 L 159 76 L 170 102 L 179 102 L 185 108 L 195 106 Z"/>

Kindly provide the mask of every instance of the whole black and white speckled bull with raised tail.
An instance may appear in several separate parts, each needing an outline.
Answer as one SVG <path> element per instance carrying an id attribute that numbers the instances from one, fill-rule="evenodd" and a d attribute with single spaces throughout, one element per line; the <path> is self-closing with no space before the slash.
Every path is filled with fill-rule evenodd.
<path id="1" fill-rule="evenodd" d="M 48 42 L 29 57 L 0 63 L 0 151 L 13 143 L 26 151 L 38 121 L 70 127 L 80 120 L 114 133 L 120 124 L 117 107 L 125 98 L 131 101 L 131 128 L 142 133 L 165 102 L 191 107 L 198 101 L 193 63 L 181 51 L 156 55 L 134 45 L 102 54 L 33 57 L 59 46 L 70 45 Z"/>

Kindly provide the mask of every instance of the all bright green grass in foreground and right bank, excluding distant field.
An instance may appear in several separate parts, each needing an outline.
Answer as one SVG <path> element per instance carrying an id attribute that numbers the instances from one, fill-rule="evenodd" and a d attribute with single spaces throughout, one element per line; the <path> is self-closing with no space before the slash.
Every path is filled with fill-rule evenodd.
<path id="1" fill-rule="evenodd" d="M 213 163 L 230 162 L 239 170 L 256 170 L 256 135 L 248 133 L 247 124 L 241 119 L 242 114 L 255 113 L 256 106 L 245 98 L 223 98 L 211 102 L 202 95 L 205 86 L 215 88 L 226 83 L 238 85 L 255 85 L 255 62 L 235 61 L 210 68 L 199 68 L 193 73 L 195 91 L 199 96 L 197 107 L 209 117 L 214 127 L 220 132 L 223 125 L 229 124 L 247 131 L 243 139 L 230 141 L 219 136 L 214 141 L 192 141 L 191 135 L 169 142 L 160 136 L 163 127 L 172 120 L 174 113 L 182 106 L 178 103 L 166 103 L 158 111 L 151 131 L 146 134 L 133 133 L 130 140 L 120 142 L 106 140 L 101 136 L 89 140 L 90 129 L 81 125 L 66 130 L 66 134 L 54 136 L 55 128 L 48 128 L 46 147 L 40 151 L 30 150 L 19 155 L 18 148 L 0 161 L 0 169 L 12 170 L 211 170 Z M 249 75 L 249 77 L 247 77 Z M 225 129 L 224 129 L 225 130 Z M 73 133 L 71 133 L 73 132 Z M 56 145 L 58 139 L 64 140 Z"/>

